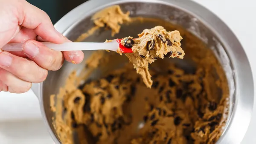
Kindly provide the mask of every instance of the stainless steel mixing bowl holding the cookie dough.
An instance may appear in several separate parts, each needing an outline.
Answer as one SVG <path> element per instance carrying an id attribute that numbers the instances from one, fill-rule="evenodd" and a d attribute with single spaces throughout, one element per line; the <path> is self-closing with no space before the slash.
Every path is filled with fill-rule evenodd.
<path id="1" fill-rule="evenodd" d="M 61 18 L 55 28 L 74 40 L 93 26 L 90 17 L 95 12 L 114 4 L 120 5 L 124 11 L 130 11 L 131 16 L 158 17 L 183 26 L 215 52 L 230 88 L 230 115 L 224 133 L 217 143 L 239 144 L 251 119 L 254 92 L 250 64 L 233 32 L 212 12 L 190 0 L 89 0 Z M 151 27 L 149 23 L 144 23 L 137 31 L 130 31 L 129 27 L 122 28 L 118 37 L 135 35 L 148 26 Z M 104 41 L 107 38 L 110 38 L 110 32 L 93 35 L 87 40 Z M 91 52 L 85 52 L 85 58 L 90 54 Z M 57 94 L 70 72 L 81 70 L 82 67 L 83 63 L 64 63 L 59 71 L 49 72 L 45 82 L 32 86 L 40 101 L 45 124 L 56 144 L 60 144 L 60 141 L 52 126 L 53 114 L 50 111 L 49 95 Z"/>

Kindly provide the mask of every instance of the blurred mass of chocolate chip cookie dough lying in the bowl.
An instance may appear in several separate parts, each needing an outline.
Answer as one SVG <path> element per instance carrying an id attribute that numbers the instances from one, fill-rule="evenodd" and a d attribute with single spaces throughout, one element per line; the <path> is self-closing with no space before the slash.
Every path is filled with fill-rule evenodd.
<path id="1" fill-rule="evenodd" d="M 65 132 L 77 133 L 79 141 L 88 141 L 79 135 L 91 135 L 96 144 L 214 144 L 225 125 L 226 100 L 218 104 L 217 97 L 207 96 L 208 70 L 199 68 L 191 75 L 170 65 L 162 75 L 151 71 L 152 89 L 131 64 L 87 81 L 64 94 Z"/>

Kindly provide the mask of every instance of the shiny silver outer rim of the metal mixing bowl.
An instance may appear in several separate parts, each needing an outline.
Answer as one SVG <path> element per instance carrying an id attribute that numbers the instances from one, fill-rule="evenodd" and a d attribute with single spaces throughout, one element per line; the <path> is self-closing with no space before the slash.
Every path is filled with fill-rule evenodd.
<path id="1" fill-rule="evenodd" d="M 237 37 L 220 18 L 208 9 L 204 8 L 204 6 L 201 6 L 191 0 L 89 0 L 64 15 L 64 17 L 58 20 L 54 26 L 58 32 L 66 35 L 67 32 L 83 20 L 84 17 L 87 17 L 93 12 L 97 12 L 99 9 L 103 9 L 114 4 L 143 2 L 160 3 L 182 9 L 183 11 L 197 17 L 198 20 L 204 23 L 205 26 L 212 30 L 212 32 L 215 32 L 215 35 L 219 40 L 221 40 L 233 65 L 233 77 L 235 78 L 236 92 L 233 112 L 230 116 L 230 120 L 227 122 L 223 135 L 219 138 L 217 143 L 240 144 L 247 131 L 247 127 L 249 126 L 253 111 L 254 84 L 252 69 L 247 55 L 245 54 Z M 44 111 L 44 104 L 42 100 L 43 83 L 38 84 L 38 87 L 35 87 L 34 89 L 38 92 L 38 98 L 41 103 L 41 113 L 47 129 L 55 144 L 61 144 L 60 141 L 58 141 L 57 136 L 51 130 Z"/>

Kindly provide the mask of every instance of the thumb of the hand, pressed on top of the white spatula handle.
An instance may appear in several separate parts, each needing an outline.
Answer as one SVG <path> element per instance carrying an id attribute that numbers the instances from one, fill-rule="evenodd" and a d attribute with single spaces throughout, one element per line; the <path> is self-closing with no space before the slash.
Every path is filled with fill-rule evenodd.
<path id="1" fill-rule="evenodd" d="M 27 29 L 33 29 L 35 34 L 42 37 L 45 41 L 57 44 L 64 43 L 66 38 L 54 28 L 49 16 L 44 11 L 25 0 L 20 10 L 22 16 L 18 19 L 19 25 Z"/>

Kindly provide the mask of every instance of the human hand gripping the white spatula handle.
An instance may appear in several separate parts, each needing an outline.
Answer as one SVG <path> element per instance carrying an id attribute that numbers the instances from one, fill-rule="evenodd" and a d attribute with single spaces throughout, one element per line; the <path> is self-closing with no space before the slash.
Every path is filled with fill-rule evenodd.
<path id="1" fill-rule="evenodd" d="M 24 43 L 23 52 L 0 49 L 0 92 L 23 93 L 40 83 L 48 70 L 61 68 L 64 60 L 80 63 L 81 51 L 57 52 L 39 41 L 70 42 L 52 25 L 49 16 L 25 0 L 0 0 L 0 48 L 7 43 Z"/>

